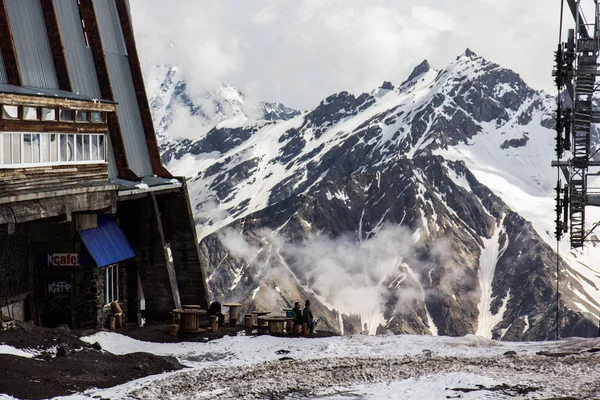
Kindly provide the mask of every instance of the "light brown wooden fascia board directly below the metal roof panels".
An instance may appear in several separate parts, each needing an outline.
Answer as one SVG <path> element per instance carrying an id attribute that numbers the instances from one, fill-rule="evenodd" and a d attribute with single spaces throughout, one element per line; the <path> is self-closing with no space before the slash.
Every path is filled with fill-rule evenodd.
<path id="1" fill-rule="evenodd" d="M 1 1 L 1 0 L 0 0 Z M 74 100 L 55 96 L 28 96 L 16 93 L 0 93 L 0 103 L 32 107 L 67 108 L 70 110 L 115 112 L 115 103 L 92 100 Z"/>

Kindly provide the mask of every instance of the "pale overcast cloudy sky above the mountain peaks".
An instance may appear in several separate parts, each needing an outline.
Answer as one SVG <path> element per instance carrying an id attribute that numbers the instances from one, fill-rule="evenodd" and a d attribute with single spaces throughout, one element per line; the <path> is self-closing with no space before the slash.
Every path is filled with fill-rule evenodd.
<path id="1" fill-rule="evenodd" d="M 193 93 L 223 82 L 305 109 L 467 47 L 554 92 L 559 0 L 130 1 L 143 68 L 177 64 Z"/>

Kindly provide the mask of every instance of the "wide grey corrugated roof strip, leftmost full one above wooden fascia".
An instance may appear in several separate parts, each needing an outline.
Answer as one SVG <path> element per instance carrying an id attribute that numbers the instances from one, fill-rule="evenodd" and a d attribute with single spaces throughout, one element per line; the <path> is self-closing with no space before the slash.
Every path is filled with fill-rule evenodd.
<path id="1" fill-rule="evenodd" d="M 58 89 L 40 0 L 6 0 L 23 86 Z"/>

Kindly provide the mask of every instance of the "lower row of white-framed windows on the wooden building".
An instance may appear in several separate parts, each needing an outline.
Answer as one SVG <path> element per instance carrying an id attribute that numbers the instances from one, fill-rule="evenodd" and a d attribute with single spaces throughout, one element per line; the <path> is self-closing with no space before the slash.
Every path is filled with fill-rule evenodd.
<path id="1" fill-rule="evenodd" d="M 35 164 L 104 163 L 104 134 L 0 132 L 0 167 Z"/>

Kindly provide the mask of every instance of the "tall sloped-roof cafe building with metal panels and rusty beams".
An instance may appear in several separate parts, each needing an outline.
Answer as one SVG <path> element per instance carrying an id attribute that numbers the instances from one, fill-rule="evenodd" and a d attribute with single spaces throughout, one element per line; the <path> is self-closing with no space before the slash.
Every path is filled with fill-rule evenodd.
<path id="1" fill-rule="evenodd" d="M 160 161 L 128 0 L 0 0 L 0 307 L 100 326 L 207 307 L 185 179 Z"/>

